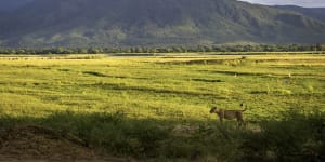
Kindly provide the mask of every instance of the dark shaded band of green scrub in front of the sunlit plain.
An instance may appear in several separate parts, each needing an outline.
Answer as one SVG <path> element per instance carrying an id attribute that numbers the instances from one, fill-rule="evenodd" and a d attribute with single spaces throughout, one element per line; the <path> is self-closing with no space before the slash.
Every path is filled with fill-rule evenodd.
<path id="1" fill-rule="evenodd" d="M 0 126 L 40 125 L 109 154 L 155 160 L 322 161 L 324 113 L 286 112 L 258 130 L 232 122 L 130 119 L 123 113 L 57 112 L 46 118 L 0 117 Z M 0 145 L 1 146 L 1 145 Z"/>

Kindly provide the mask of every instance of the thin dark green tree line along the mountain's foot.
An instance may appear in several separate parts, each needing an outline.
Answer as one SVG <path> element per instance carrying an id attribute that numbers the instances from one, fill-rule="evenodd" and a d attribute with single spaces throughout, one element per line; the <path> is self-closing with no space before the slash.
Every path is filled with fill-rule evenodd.
<path id="1" fill-rule="evenodd" d="M 190 52 L 303 52 L 325 51 L 323 44 L 286 45 L 197 45 L 168 48 L 0 48 L 0 54 L 102 54 L 102 53 L 190 53 Z"/>

